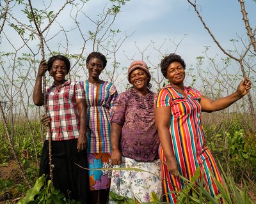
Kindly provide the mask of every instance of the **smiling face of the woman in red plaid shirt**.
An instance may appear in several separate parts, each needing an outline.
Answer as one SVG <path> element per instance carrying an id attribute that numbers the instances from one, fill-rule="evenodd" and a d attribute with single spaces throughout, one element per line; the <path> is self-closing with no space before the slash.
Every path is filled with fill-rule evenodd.
<path id="1" fill-rule="evenodd" d="M 55 59 L 52 62 L 52 68 L 50 73 L 54 79 L 54 84 L 56 85 L 64 84 L 65 77 L 67 75 L 67 66 L 65 62 L 61 61 L 60 59 Z"/>

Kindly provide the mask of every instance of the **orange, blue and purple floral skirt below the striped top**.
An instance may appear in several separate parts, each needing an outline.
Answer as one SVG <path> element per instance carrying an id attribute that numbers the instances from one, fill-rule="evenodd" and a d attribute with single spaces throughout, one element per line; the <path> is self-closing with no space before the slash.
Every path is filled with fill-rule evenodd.
<path id="1" fill-rule="evenodd" d="M 90 191 L 109 189 L 111 170 L 95 170 L 98 168 L 111 168 L 111 155 L 109 153 L 87 153 Z"/>

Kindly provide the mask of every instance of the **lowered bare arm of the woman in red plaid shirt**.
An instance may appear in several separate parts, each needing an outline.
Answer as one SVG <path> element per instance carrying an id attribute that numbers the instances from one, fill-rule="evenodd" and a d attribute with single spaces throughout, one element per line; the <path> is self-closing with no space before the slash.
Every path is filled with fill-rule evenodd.
<path id="1" fill-rule="evenodd" d="M 77 140 L 77 149 L 78 152 L 86 149 L 87 138 L 86 138 L 86 126 L 87 126 L 87 105 L 85 99 L 76 99 L 76 105 L 79 111 L 79 137 Z"/>

